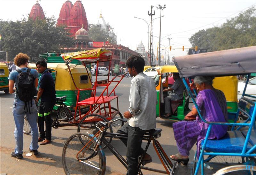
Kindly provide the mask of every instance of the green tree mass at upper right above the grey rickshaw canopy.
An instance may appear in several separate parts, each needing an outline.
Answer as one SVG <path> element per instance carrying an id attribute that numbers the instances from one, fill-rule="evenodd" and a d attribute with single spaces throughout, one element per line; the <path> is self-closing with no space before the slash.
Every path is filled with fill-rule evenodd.
<path id="1" fill-rule="evenodd" d="M 193 47 L 208 52 L 256 45 L 256 9 L 249 8 L 220 27 L 200 30 L 189 39 Z"/>

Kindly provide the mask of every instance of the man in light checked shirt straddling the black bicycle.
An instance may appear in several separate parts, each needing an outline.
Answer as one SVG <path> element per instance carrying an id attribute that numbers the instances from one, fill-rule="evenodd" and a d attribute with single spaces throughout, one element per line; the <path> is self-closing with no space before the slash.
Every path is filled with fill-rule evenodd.
<path id="1" fill-rule="evenodd" d="M 142 55 L 133 55 L 126 61 L 129 74 L 134 76 L 131 81 L 130 107 L 124 117 L 130 119 L 117 133 L 128 134 L 128 139 L 121 139 L 127 146 L 127 174 L 138 173 L 138 158 L 143 154 L 141 148 L 143 135 L 147 130 L 156 127 L 156 85 L 152 78 L 143 73 L 145 61 Z M 144 163 L 152 162 L 146 154 Z"/>

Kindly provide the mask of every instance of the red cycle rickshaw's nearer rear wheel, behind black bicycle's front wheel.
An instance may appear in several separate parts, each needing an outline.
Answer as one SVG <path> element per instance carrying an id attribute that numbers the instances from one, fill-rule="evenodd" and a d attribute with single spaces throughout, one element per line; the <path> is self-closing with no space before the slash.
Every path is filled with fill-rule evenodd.
<path id="1" fill-rule="evenodd" d="M 82 133 L 90 133 L 90 134 L 96 134 L 99 129 L 96 128 L 96 124 L 100 121 L 103 122 L 108 122 L 108 120 L 98 114 L 89 114 L 86 115 L 84 118 L 82 118 L 82 120 L 79 122 L 78 127 L 77 127 L 77 132 L 82 132 Z M 109 126 L 109 128 L 107 129 L 107 132 L 113 132 L 112 131 L 112 127 Z M 112 138 L 106 138 L 108 140 L 108 142 L 110 143 L 112 141 Z M 105 144 L 102 144 L 103 149 L 106 148 Z"/>

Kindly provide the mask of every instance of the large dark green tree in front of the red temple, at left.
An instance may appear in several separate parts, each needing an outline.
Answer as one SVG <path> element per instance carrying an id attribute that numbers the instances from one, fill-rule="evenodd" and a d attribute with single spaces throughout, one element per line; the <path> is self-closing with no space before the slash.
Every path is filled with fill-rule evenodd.
<path id="1" fill-rule="evenodd" d="M 54 17 L 45 20 L 28 18 L 16 21 L 0 20 L 1 48 L 8 52 L 13 60 L 16 54 L 28 54 L 32 61 L 39 58 L 40 53 L 54 52 L 61 47 L 71 45 L 73 38 L 69 36 L 65 26 L 56 26 Z"/>

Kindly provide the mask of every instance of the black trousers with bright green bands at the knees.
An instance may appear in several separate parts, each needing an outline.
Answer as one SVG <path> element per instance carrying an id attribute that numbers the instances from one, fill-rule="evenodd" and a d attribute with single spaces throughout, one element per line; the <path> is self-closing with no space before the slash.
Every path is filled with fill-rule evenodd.
<path id="1" fill-rule="evenodd" d="M 38 107 L 38 128 L 39 137 L 47 140 L 52 140 L 52 108 L 55 105 L 55 101 L 41 101 Z M 45 132 L 44 132 L 45 122 Z"/>

